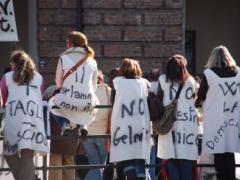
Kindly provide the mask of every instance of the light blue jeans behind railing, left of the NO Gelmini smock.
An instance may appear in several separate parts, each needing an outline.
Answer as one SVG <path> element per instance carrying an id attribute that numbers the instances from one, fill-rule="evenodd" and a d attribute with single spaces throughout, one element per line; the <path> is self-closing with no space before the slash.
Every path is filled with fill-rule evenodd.
<path id="1" fill-rule="evenodd" d="M 89 138 L 83 143 L 87 152 L 88 161 L 90 165 L 104 164 L 107 157 L 105 147 L 105 138 Z M 85 180 L 102 180 L 102 174 L 99 168 L 89 169 Z"/>

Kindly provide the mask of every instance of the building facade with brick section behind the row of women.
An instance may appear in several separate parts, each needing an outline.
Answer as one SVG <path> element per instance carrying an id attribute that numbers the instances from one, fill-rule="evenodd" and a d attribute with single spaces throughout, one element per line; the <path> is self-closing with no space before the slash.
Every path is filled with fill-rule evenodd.
<path id="1" fill-rule="evenodd" d="M 181 53 L 190 71 L 200 73 L 214 46 L 229 47 L 240 58 L 240 2 L 236 0 L 13 0 L 19 42 L 0 42 L 8 65 L 10 51 L 22 48 L 35 59 L 47 85 L 54 83 L 57 57 L 66 34 L 84 32 L 104 73 L 125 57 L 138 59 L 144 72 L 163 69 Z M 218 7 L 218 8 L 216 8 Z M 236 20 L 234 20 L 236 19 Z"/>

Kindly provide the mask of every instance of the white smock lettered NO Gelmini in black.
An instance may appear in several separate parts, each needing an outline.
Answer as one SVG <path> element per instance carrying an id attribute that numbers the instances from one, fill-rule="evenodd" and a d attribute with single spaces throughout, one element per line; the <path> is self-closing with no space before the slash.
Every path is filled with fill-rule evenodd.
<path id="1" fill-rule="evenodd" d="M 144 79 L 113 80 L 116 89 L 111 120 L 110 162 L 150 159 L 150 117 Z"/>

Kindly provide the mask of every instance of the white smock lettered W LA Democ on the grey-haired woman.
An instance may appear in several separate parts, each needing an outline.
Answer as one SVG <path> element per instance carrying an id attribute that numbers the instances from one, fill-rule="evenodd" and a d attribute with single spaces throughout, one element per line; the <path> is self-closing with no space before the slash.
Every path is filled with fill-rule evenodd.
<path id="1" fill-rule="evenodd" d="M 240 72 L 220 78 L 212 70 L 204 71 L 209 89 L 203 103 L 203 152 L 240 152 Z"/>

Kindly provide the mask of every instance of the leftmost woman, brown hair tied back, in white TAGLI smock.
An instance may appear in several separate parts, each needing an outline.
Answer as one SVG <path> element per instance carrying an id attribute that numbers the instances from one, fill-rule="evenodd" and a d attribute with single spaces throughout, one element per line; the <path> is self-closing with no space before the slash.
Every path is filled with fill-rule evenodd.
<path id="1" fill-rule="evenodd" d="M 42 76 L 23 51 L 11 56 L 12 71 L 1 80 L 6 119 L 3 154 L 15 179 L 34 180 L 34 153 L 49 152 L 44 129 Z"/>

